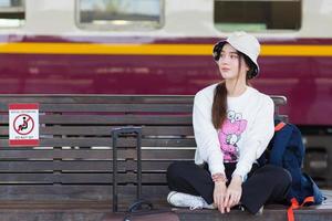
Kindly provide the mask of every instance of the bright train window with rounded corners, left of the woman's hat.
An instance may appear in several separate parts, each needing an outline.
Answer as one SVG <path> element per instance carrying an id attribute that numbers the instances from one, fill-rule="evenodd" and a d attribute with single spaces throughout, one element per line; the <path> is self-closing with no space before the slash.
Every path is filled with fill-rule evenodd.
<path id="1" fill-rule="evenodd" d="M 164 0 L 77 0 L 76 23 L 83 29 L 152 30 L 163 25 Z"/>

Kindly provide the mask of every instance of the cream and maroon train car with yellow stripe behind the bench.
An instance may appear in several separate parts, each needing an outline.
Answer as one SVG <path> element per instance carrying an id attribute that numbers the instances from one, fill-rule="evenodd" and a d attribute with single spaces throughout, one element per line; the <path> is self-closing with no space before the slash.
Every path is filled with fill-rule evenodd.
<path id="1" fill-rule="evenodd" d="M 0 0 L 0 93 L 195 94 L 219 81 L 214 43 L 245 30 L 262 44 L 252 85 L 326 138 L 331 24 L 330 0 Z"/>

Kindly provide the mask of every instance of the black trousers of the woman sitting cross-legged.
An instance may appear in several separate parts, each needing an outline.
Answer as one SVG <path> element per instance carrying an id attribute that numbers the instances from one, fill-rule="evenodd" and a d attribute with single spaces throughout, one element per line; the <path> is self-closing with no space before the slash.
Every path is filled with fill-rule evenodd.
<path id="1" fill-rule="evenodd" d="M 236 164 L 225 164 L 228 180 L 235 168 Z M 188 161 L 174 162 L 167 169 L 167 181 L 170 190 L 201 196 L 208 204 L 214 202 L 215 183 L 207 167 Z M 272 165 L 258 168 L 253 165 L 242 183 L 240 202 L 255 214 L 266 203 L 283 202 L 290 186 L 291 176 L 283 168 Z"/>

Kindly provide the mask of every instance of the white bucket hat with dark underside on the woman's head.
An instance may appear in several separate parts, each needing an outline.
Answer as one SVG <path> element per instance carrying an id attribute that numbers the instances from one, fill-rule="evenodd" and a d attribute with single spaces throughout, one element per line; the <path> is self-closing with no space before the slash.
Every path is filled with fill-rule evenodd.
<path id="1" fill-rule="evenodd" d="M 246 54 L 252 63 L 256 65 L 256 70 L 251 73 L 250 78 L 253 78 L 259 73 L 259 66 L 257 63 L 257 57 L 260 53 L 260 44 L 258 40 L 247 32 L 234 32 L 228 39 L 219 41 L 214 46 L 214 59 L 218 61 L 220 57 L 220 52 L 225 43 L 229 43 L 237 51 Z"/>

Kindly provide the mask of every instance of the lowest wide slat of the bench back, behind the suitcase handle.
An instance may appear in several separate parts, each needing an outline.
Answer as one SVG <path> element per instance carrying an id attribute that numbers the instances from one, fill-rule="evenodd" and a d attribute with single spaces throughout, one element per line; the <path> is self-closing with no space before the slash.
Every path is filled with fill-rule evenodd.
<path id="1" fill-rule="evenodd" d="M 166 186 L 143 186 L 142 193 L 145 199 L 152 201 L 166 201 L 168 188 Z M 1 197 L 7 200 L 29 200 L 29 201 L 108 201 L 111 209 L 112 185 L 13 185 L 10 192 L 6 186 L 0 186 Z M 120 201 L 124 202 L 125 198 L 131 199 L 135 196 L 136 187 L 132 185 L 118 186 Z M 1 208 L 1 204 L 0 204 Z"/>

